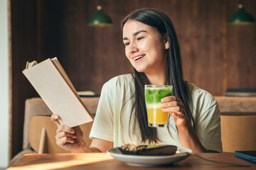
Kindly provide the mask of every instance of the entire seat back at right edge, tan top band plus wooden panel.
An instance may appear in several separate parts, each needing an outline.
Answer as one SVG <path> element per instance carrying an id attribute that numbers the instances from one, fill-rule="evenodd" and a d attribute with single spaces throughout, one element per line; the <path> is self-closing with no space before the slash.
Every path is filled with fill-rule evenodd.
<path id="1" fill-rule="evenodd" d="M 220 106 L 223 152 L 256 149 L 256 97 L 215 99 Z"/>

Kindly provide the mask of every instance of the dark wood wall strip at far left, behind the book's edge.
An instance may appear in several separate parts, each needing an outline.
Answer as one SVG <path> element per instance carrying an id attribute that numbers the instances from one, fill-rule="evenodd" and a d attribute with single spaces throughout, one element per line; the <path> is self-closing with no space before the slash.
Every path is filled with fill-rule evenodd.
<path id="1" fill-rule="evenodd" d="M 26 9 L 26 10 L 24 10 Z M 27 60 L 36 57 L 36 1 L 11 1 L 11 66 L 12 66 L 12 157 L 22 148 L 24 101 L 36 91 L 22 74 Z"/>

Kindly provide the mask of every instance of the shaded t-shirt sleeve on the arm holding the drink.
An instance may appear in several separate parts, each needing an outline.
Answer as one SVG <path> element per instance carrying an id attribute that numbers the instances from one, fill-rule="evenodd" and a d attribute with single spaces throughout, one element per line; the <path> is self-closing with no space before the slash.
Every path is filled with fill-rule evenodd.
<path id="1" fill-rule="evenodd" d="M 218 103 L 213 96 L 206 94 L 201 104 L 201 114 L 199 114 L 196 121 L 196 134 L 203 147 L 208 150 L 222 152 L 220 108 Z"/>

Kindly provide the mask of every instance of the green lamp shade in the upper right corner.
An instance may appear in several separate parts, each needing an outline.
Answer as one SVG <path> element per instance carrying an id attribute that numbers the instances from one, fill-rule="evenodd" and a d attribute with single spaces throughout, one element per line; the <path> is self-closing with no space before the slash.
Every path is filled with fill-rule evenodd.
<path id="1" fill-rule="evenodd" d="M 238 11 L 228 18 L 229 25 L 252 25 L 255 23 L 250 13 L 245 12 L 242 4 L 238 5 Z"/>

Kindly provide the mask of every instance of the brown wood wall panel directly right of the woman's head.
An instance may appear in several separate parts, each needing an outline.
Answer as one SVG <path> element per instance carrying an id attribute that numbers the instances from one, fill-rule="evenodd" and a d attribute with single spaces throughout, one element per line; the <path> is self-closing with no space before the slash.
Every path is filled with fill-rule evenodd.
<path id="1" fill-rule="evenodd" d="M 176 29 L 184 77 L 211 94 L 223 93 L 222 1 L 132 1 L 132 10 L 159 8 Z"/>

